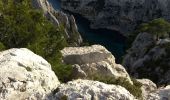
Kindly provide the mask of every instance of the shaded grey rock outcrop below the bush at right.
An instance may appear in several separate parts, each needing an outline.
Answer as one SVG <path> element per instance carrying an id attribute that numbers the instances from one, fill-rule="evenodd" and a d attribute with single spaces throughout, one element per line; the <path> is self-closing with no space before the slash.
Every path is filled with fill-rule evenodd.
<path id="1" fill-rule="evenodd" d="M 137 78 L 149 78 L 157 84 L 170 83 L 170 43 L 156 41 L 149 33 L 140 33 L 124 57 L 123 66 Z"/>

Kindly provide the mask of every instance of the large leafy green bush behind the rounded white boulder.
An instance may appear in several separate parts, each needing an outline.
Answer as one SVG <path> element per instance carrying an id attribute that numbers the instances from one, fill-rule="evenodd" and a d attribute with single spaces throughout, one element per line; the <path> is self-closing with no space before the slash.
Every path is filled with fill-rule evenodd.
<path id="1" fill-rule="evenodd" d="M 63 68 L 59 52 L 66 45 L 63 27 L 50 23 L 32 7 L 31 0 L 0 0 L 0 50 L 29 48 L 48 60 L 59 79 L 66 81 L 71 68 Z"/>

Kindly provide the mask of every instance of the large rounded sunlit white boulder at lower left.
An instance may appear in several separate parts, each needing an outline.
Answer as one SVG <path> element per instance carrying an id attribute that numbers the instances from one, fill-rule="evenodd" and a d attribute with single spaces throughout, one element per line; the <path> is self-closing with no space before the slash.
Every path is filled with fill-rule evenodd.
<path id="1" fill-rule="evenodd" d="M 51 65 L 28 49 L 0 52 L 0 100 L 48 100 L 59 84 Z"/>

